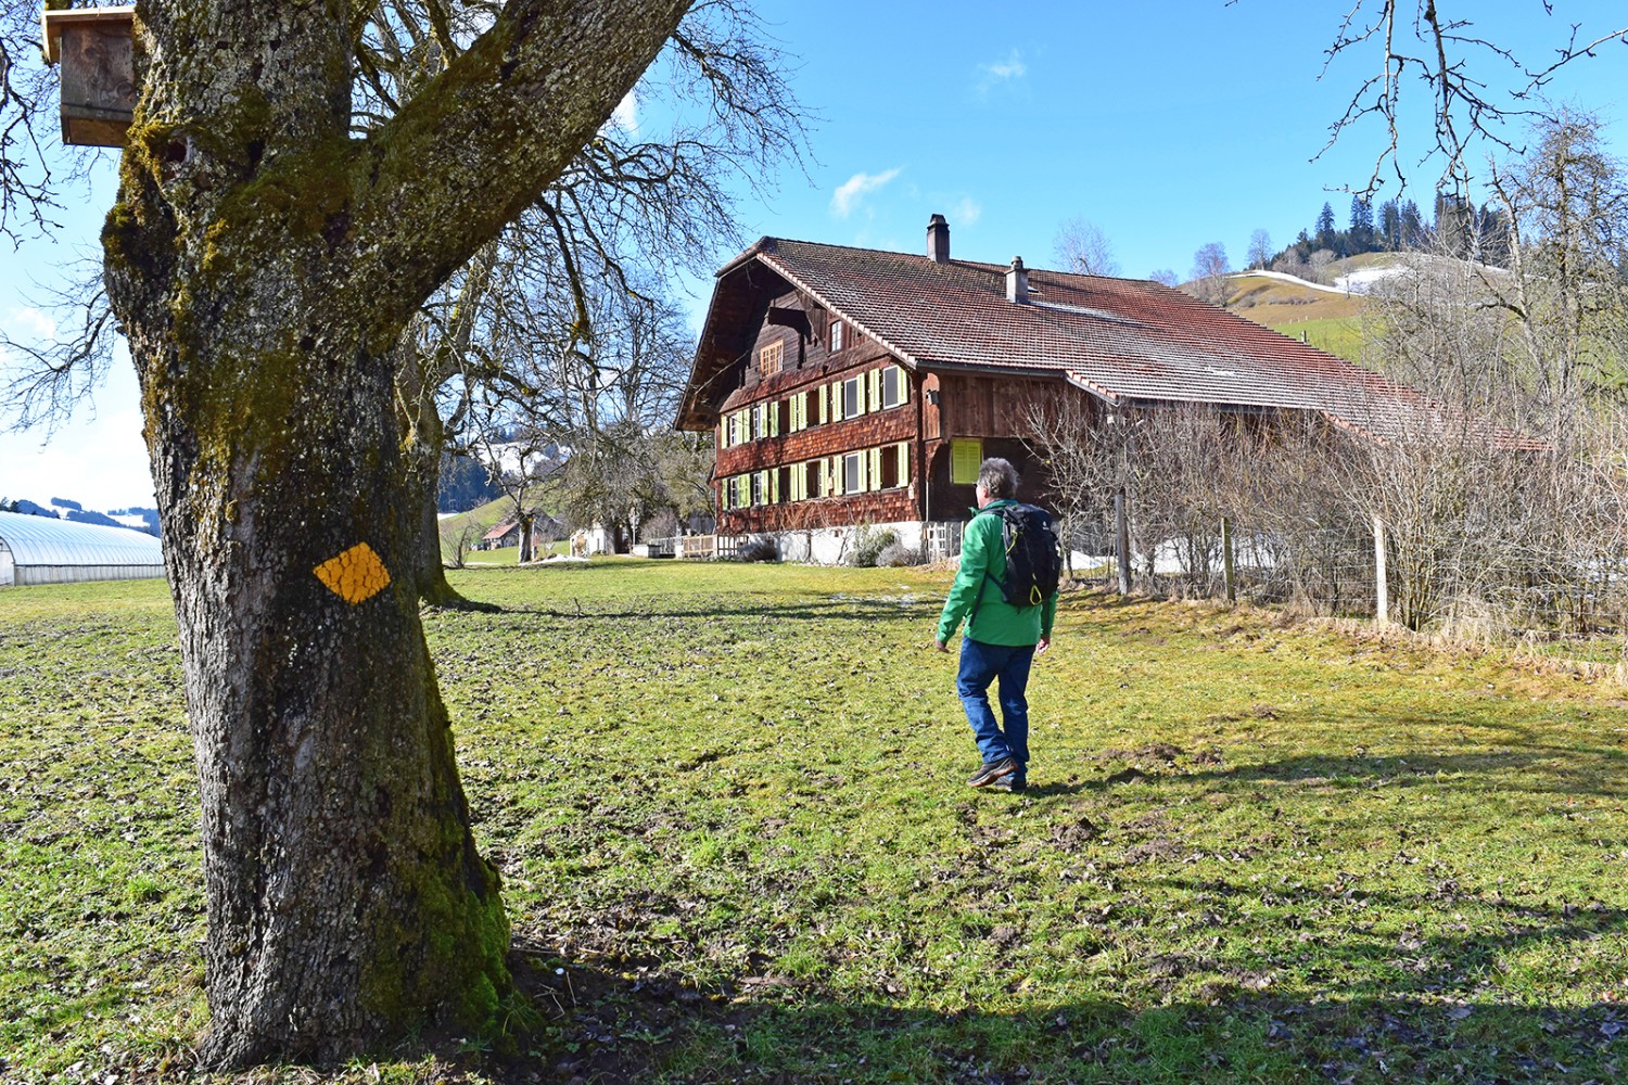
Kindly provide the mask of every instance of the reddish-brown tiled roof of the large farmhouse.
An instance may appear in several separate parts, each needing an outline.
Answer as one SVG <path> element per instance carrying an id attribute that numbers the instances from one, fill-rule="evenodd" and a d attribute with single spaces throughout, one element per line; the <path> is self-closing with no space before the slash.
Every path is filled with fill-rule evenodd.
<path id="1" fill-rule="evenodd" d="M 1110 402 L 1312 410 L 1376 438 L 1441 425 L 1420 392 L 1159 283 L 1029 268 L 1029 304 L 1014 304 L 998 264 L 778 237 L 720 272 L 703 350 L 721 330 L 726 281 L 749 265 L 918 368 L 1053 369 Z M 1516 434 L 1501 442 L 1524 444 Z"/>

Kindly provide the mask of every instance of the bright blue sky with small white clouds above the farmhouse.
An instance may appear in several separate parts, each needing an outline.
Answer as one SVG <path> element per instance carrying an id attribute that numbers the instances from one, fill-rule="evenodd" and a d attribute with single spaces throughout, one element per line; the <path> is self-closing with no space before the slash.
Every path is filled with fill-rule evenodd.
<path id="1" fill-rule="evenodd" d="M 1556 0 L 1553 16 L 1538 0 L 1441 3 L 1449 7 L 1532 65 L 1548 62 L 1573 23 L 1584 39 L 1628 24 L 1621 0 Z M 1169 268 L 1187 278 L 1200 246 L 1219 241 L 1242 264 L 1252 231 L 1281 247 L 1325 200 L 1343 226 L 1351 198 L 1340 189 L 1368 181 L 1382 140 L 1374 125 L 1356 127 L 1311 161 L 1377 68 L 1363 52 L 1324 73 L 1348 0 L 760 0 L 757 8 L 821 120 L 807 177 L 788 171 L 767 200 L 742 197 L 746 242 L 778 234 L 917 252 L 938 211 L 957 257 L 1022 255 L 1047 267 L 1058 226 L 1078 216 L 1104 231 L 1123 275 Z M 1475 63 L 1495 86 L 1508 81 L 1493 59 Z M 1428 208 L 1439 163 L 1418 163 L 1428 101 L 1423 86 L 1407 91 L 1407 195 Z M 1548 94 L 1599 112 L 1618 153 L 1628 148 L 1628 47 L 1610 44 L 1565 68 Z M 1519 143 L 1522 132 L 1508 135 Z M 13 337 L 49 332 L 29 304 L 39 296 L 31 281 L 50 281 L 75 247 L 94 241 L 114 163 L 111 151 L 101 158 L 101 182 L 75 200 L 59 241 L 0 264 L 0 320 Z M 1392 181 L 1381 198 L 1395 190 Z M 698 324 L 710 283 L 695 288 Z M 98 394 L 94 418 L 86 412 L 44 447 L 42 439 L 0 436 L 0 496 L 151 503 L 127 364 Z"/>

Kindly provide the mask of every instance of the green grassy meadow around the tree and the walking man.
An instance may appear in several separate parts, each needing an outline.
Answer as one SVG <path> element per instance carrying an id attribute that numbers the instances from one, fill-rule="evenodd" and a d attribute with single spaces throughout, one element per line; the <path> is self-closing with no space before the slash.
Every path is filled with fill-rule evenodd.
<path id="1" fill-rule="evenodd" d="M 345 1082 L 1612 1082 L 1628 696 L 1268 612 L 1071 594 L 1026 795 L 947 574 L 594 561 L 427 615 L 537 1025 Z M 207 1023 L 163 584 L 0 592 L 0 1080 Z"/>

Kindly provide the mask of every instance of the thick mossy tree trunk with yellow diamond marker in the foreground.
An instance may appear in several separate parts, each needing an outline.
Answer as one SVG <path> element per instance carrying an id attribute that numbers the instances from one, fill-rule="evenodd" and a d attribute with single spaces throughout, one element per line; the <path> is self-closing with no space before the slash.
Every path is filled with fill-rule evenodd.
<path id="1" fill-rule="evenodd" d="M 103 241 L 204 807 L 204 1061 L 480 1026 L 508 924 L 418 623 L 410 314 L 594 133 L 687 0 L 514 0 L 350 138 L 352 5 L 143 3 Z"/>

